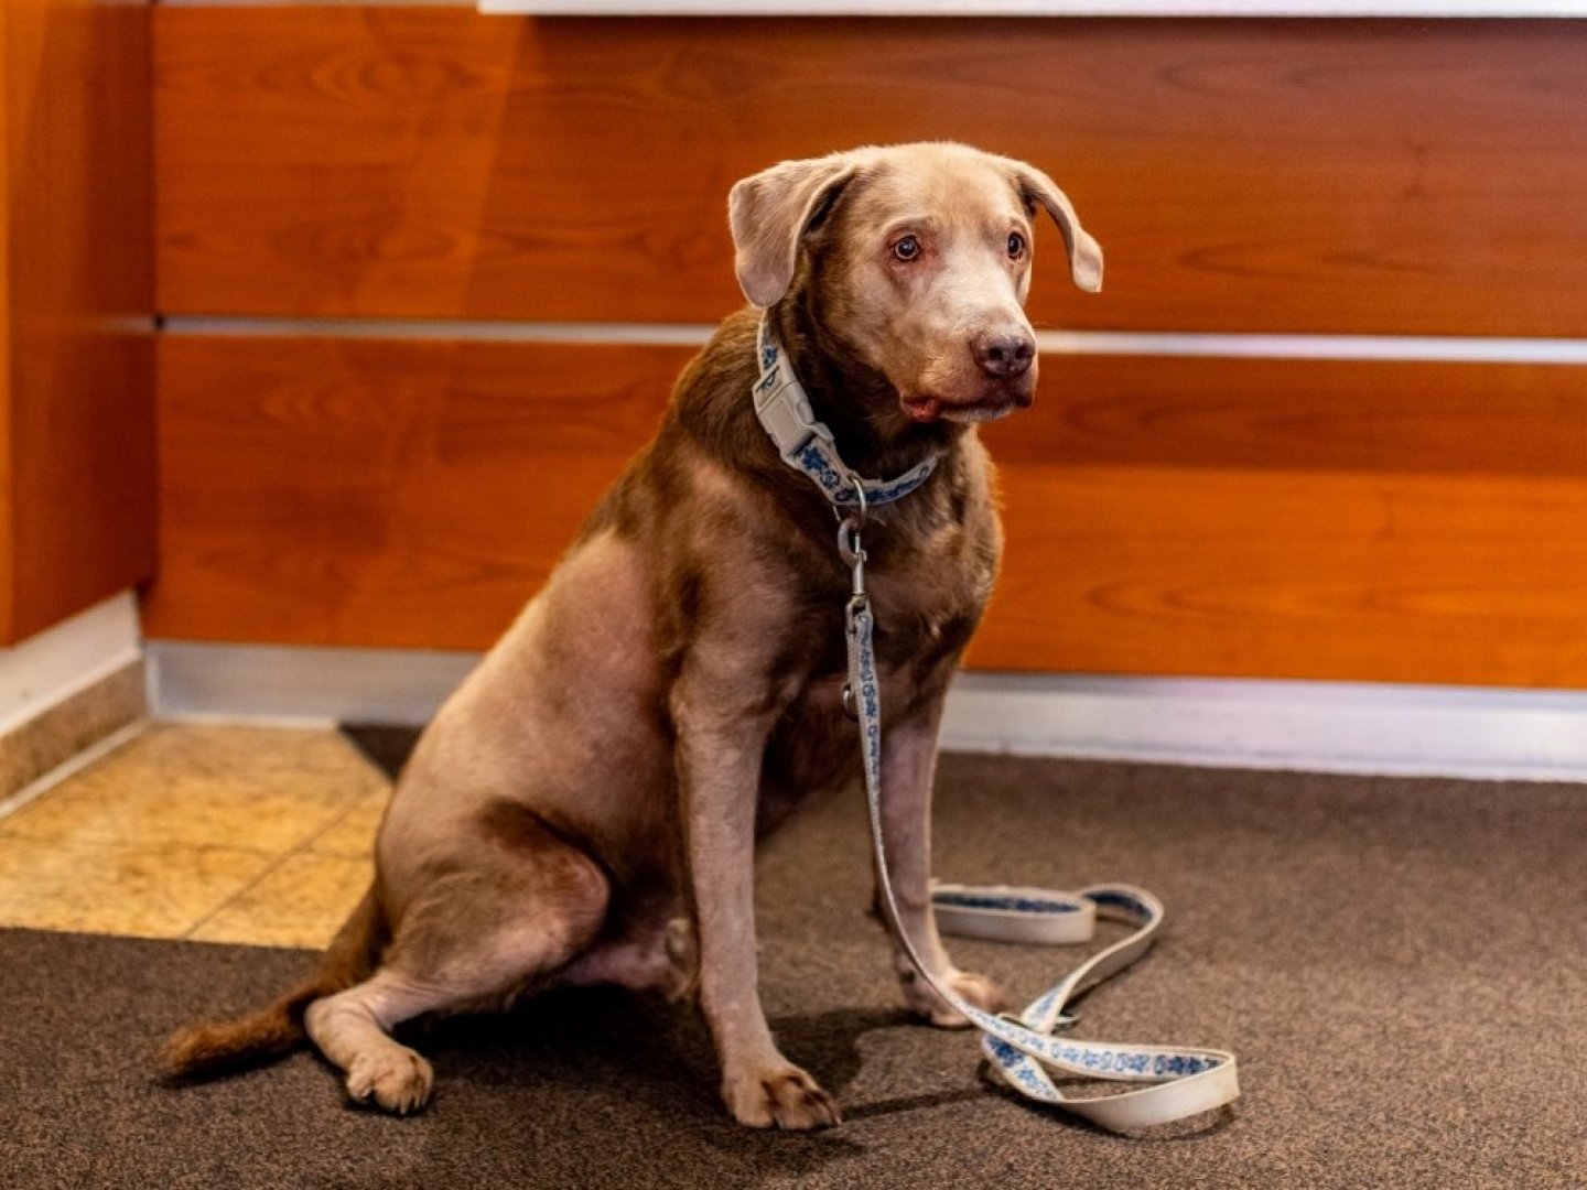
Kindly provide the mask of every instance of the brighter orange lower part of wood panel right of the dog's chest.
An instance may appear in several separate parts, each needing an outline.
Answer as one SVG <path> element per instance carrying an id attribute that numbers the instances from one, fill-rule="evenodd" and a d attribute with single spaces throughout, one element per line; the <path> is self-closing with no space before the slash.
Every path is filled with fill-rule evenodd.
<path id="1" fill-rule="evenodd" d="M 974 665 L 1587 685 L 1579 479 L 1003 474 L 1008 566 Z"/>

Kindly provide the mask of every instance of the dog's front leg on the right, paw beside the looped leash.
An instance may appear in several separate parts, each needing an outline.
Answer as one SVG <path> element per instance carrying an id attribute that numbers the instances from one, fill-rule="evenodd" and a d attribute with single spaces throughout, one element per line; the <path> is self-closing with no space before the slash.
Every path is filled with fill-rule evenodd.
<path id="1" fill-rule="evenodd" d="M 882 844 L 898 906 L 898 925 L 914 944 L 916 954 L 938 982 L 976 1008 L 995 1012 L 1003 1004 L 997 985 L 986 976 L 960 971 L 952 965 L 932 911 L 932 787 L 936 781 L 941 722 L 943 697 L 938 695 L 911 709 L 882 735 Z M 879 887 L 876 896 L 878 912 L 886 922 Z M 943 1028 L 970 1023 L 916 974 L 897 939 L 893 962 L 909 1008 Z"/>

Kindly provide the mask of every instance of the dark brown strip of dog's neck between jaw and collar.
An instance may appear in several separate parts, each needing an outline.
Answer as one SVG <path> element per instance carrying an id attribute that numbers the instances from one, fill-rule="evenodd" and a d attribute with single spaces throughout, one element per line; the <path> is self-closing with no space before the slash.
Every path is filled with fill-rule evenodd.
<path id="1" fill-rule="evenodd" d="M 857 474 L 901 474 L 947 454 L 965 432 L 952 422 L 913 422 L 887 378 L 825 333 L 803 294 L 771 306 L 765 324 L 805 386 L 816 419 L 832 430 L 838 454 Z"/>

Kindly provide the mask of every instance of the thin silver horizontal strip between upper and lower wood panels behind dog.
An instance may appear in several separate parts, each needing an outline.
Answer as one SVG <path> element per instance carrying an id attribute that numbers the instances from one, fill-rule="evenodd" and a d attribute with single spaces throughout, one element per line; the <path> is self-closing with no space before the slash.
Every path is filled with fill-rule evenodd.
<path id="1" fill-rule="evenodd" d="M 176 314 L 167 335 L 476 343 L 600 343 L 698 347 L 714 332 L 697 322 L 511 322 L 490 319 L 232 317 Z M 1587 363 L 1587 340 L 1435 335 L 1225 335 L 1138 330 L 1038 330 L 1052 355 L 1190 355 L 1222 359 L 1384 360 L 1438 363 Z"/>

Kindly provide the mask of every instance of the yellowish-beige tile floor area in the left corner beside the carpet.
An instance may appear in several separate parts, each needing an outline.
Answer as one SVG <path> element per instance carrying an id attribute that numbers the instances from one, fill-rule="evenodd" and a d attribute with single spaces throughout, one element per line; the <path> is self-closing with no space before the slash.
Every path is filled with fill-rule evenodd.
<path id="1" fill-rule="evenodd" d="M 0 927 L 321 947 L 389 792 L 333 730 L 151 724 L 0 817 Z"/>

